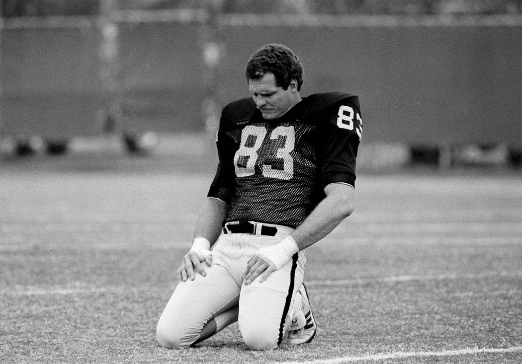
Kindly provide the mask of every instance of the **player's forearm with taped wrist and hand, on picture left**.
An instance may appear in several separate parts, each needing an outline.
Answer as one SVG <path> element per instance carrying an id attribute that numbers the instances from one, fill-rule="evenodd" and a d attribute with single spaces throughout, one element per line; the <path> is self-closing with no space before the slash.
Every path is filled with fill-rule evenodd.
<path id="1" fill-rule="evenodd" d="M 202 262 L 212 264 L 210 247 L 214 245 L 221 233 L 221 224 L 227 214 L 229 205 L 215 198 L 208 198 L 199 213 L 194 231 L 194 242 L 191 250 L 183 257 L 183 262 L 177 270 L 180 282 L 194 280 L 194 270 L 205 276 Z"/>

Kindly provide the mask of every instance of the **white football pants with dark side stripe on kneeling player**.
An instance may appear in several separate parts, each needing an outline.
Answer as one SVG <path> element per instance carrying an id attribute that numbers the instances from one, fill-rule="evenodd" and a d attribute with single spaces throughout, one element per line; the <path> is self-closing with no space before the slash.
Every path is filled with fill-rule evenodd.
<path id="1" fill-rule="evenodd" d="M 269 226 L 278 228 L 276 236 L 221 234 L 212 247 L 212 265 L 203 263 L 206 276 L 195 272 L 194 281 L 178 284 L 163 310 L 156 332 L 161 346 L 189 347 L 236 320 L 251 349 L 275 349 L 281 344 L 292 313 L 300 309 L 293 305 L 303 283 L 306 258 L 300 251 L 265 282 L 259 283 L 257 277 L 243 285 L 246 263 L 256 250 L 276 244 L 293 231 Z"/>

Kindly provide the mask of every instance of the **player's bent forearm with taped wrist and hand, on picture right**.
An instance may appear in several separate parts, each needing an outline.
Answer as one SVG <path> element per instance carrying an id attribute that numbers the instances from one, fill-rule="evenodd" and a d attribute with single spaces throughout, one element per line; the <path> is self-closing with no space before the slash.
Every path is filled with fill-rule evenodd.
<path id="1" fill-rule="evenodd" d="M 295 241 L 298 250 L 303 250 L 324 238 L 353 212 L 354 190 L 351 186 L 330 184 L 325 187 L 325 193 L 326 198 L 319 202 L 314 211 L 291 234 L 290 238 Z M 262 249 L 271 250 L 266 252 L 273 256 L 280 251 L 278 244 Z M 248 261 L 243 282 L 250 284 L 258 275 L 261 275 L 259 282 L 263 282 L 274 271 L 273 266 L 256 255 Z"/>

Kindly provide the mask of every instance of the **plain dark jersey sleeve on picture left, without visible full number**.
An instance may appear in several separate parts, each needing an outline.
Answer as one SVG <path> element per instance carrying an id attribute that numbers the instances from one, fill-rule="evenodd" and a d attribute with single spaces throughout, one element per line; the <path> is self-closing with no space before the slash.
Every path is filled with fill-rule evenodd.
<path id="1" fill-rule="evenodd" d="M 231 149 L 233 140 L 227 135 L 227 123 L 226 109 L 223 108 L 219 122 L 219 129 L 216 135 L 216 147 L 218 149 L 219 162 L 216 175 L 210 184 L 207 197 L 217 198 L 223 202 L 230 203 L 234 196 L 235 174 L 234 165 L 232 163 L 234 151 Z"/>

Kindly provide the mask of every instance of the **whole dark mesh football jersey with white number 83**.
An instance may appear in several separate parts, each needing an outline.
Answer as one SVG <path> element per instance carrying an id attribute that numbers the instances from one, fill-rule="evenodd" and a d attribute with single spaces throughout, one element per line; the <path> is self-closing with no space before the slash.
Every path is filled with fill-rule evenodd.
<path id="1" fill-rule="evenodd" d="M 265 120 L 252 98 L 232 102 L 221 114 L 208 197 L 230 204 L 223 223 L 296 227 L 325 197 L 326 185 L 355 187 L 361 135 L 355 95 L 313 94 L 276 120 Z"/>

